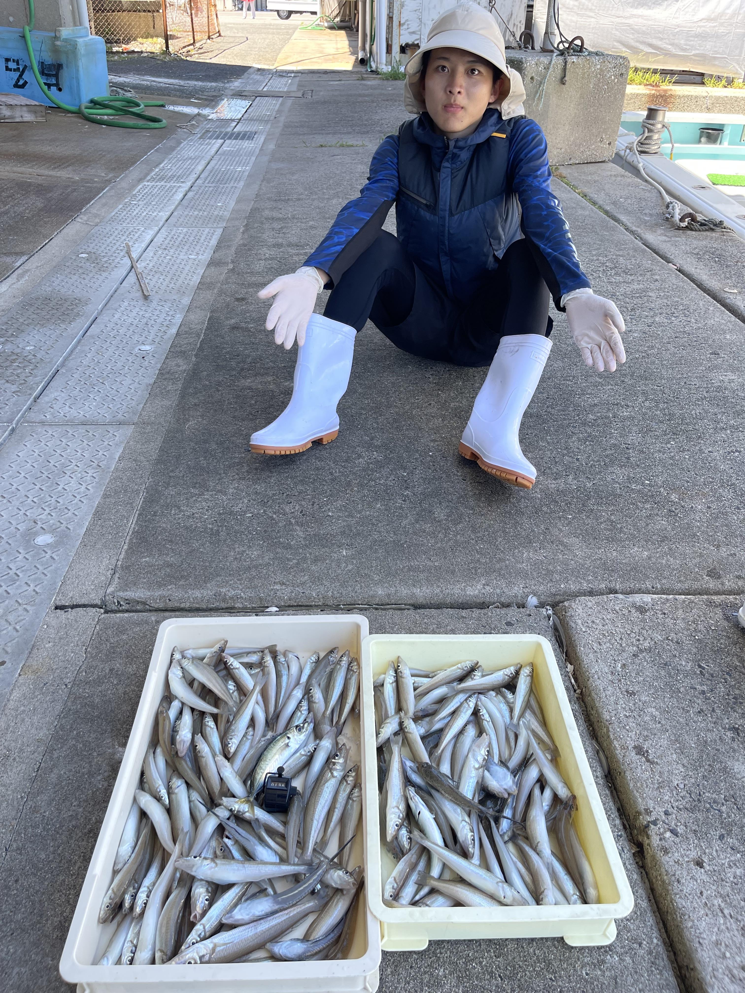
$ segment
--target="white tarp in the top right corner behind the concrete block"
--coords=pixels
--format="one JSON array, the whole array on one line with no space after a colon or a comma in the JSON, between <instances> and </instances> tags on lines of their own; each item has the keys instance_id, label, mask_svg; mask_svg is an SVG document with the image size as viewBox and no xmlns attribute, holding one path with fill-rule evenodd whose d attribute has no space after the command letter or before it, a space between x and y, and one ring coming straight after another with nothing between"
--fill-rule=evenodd
<instances>
[{"instance_id":1,"label":"white tarp in the top right corner behind the concrete block","mask_svg":"<svg viewBox=\"0 0 745 993\"><path fill-rule=\"evenodd\" d=\"M549 0L535 0L540 46ZM558 0L566 38L626 55L632 66L745 74L745 0Z\"/></svg>"}]
</instances>

